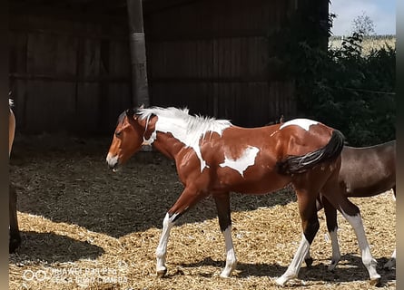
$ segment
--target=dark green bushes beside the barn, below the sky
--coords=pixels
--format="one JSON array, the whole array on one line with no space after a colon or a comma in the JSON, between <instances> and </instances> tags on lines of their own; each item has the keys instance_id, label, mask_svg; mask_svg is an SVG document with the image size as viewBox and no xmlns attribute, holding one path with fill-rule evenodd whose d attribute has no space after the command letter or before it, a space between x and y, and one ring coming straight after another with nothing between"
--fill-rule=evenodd
<instances>
[{"instance_id":1,"label":"dark green bushes beside the barn, below the sky","mask_svg":"<svg viewBox=\"0 0 404 290\"><path fill-rule=\"evenodd\" d=\"M362 40L353 33L328 51L299 42L289 66L301 114L339 129L351 146L395 139L396 50L363 55Z\"/></svg>"}]
</instances>

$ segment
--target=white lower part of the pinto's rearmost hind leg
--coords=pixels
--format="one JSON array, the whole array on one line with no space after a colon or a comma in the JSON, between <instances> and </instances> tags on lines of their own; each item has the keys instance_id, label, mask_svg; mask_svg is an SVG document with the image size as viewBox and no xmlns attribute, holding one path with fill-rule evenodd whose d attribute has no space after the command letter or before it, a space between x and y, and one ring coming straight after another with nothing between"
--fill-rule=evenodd
<instances>
[{"instance_id":1,"label":"white lower part of the pinto's rearmost hind leg","mask_svg":"<svg viewBox=\"0 0 404 290\"><path fill-rule=\"evenodd\" d=\"M345 212L341 210L344 218L348 220L350 226L353 227L356 237L358 238L358 244L360 246L360 251L362 253L362 262L363 265L368 269L370 280L377 280L380 278L380 275L376 271L377 262L371 256L370 247L368 243L368 239L366 238L365 230L363 228L362 218L360 218L360 214L356 216L347 215Z\"/></svg>"}]
</instances>

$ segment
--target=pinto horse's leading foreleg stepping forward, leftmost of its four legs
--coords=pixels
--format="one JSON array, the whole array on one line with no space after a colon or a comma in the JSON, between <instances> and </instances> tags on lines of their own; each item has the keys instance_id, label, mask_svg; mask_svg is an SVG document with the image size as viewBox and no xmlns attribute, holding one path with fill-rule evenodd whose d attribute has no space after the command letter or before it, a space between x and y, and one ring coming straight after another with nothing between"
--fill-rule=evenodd
<instances>
[{"instance_id":1,"label":"pinto horse's leading foreleg stepping forward, leftmost of its four legs","mask_svg":"<svg viewBox=\"0 0 404 290\"><path fill-rule=\"evenodd\" d=\"M204 198L202 194L196 193L191 189L184 189L182 195L177 199L175 204L170 208L163 219L163 232L160 237L159 245L156 248L156 272L157 275L163 277L167 273L165 260L167 255L167 244L170 237L170 231L174 226L175 221L182 216L182 214L195 203Z\"/></svg>"}]
</instances>

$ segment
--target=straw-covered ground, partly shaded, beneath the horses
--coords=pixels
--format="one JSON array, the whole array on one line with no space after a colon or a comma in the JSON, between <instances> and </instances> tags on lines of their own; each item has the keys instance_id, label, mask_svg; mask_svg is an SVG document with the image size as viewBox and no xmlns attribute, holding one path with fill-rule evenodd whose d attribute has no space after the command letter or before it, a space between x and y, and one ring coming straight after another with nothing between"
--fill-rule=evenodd
<instances>
[{"instance_id":1,"label":"straw-covered ground, partly shaded, beneath the horses","mask_svg":"<svg viewBox=\"0 0 404 290\"><path fill-rule=\"evenodd\" d=\"M275 289L301 239L294 193L232 195L233 239L239 260L230 279L219 277L224 240L214 202L207 198L172 229L167 277L154 274L161 224L181 192L171 160L139 153L119 174L104 164L110 140L20 138L11 178L18 187L23 245L10 255L10 289ZM353 198L361 208L382 285L396 288L395 270L381 266L395 247L391 193ZM288 288L369 289L356 237L340 217L342 259L327 271L331 247L323 212L300 279ZM36 274L36 278L32 275Z\"/></svg>"}]
</instances>

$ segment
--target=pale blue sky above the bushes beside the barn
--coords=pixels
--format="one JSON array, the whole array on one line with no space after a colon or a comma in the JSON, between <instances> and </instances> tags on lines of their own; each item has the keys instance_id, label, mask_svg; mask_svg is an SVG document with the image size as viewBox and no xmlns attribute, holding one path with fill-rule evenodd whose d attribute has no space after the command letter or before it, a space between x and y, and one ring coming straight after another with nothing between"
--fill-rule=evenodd
<instances>
[{"instance_id":1,"label":"pale blue sky above the bushes beside the barn","mask_svg":"<svg viewBox=\"0 0 404 290\"><path fill-rule=\"evenodd\" d=\"M330 13L337 14L333 35L349 35L353 19L363 13L373 21L376 34L396 34L396 0L331 0Z\"/></svg>"}]
</instances>

